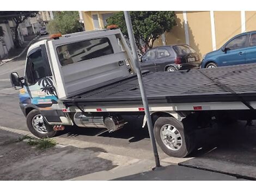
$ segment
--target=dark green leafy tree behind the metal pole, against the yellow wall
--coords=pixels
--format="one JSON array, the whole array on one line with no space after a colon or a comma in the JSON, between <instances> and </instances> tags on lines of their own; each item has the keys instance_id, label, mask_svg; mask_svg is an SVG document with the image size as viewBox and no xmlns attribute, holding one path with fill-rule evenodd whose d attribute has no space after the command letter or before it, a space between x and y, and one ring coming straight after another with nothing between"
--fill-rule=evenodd
<instances>
[{"instance_id":1,"label":"dark green leafy tree behind the metal pole, against the yellow wall","mask_svg":"<svg viewBox=\"0 0 256 191\"><path fill-rule=\"evenodd\" d=\"M137 48L144 53L153 47L156 39L176 26L174 11L130 11ZM117 25L128 36L123 11L107 18L107 25Z\"/></svg>"}]
</instances>

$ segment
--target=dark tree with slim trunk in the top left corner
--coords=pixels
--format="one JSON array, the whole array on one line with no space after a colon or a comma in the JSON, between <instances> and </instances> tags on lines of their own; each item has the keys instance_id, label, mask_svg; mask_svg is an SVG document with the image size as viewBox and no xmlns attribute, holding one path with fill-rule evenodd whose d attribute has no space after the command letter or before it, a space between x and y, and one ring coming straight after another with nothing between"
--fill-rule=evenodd
<instances>
[{"instance_id":1,"label":"dark tree with slim trunk in the top left corner","mask_svg":"<svg viewBox=\"0 0 256 191\"><path fill-rule=\"evenodd\" d=\"M20 23L24 22L28 17L35 17L37 13L38 11L0 11L0 22L7 20L15 22L14 46L16 48L20 47L18 31Z\"/></svg>"}]
</instances>

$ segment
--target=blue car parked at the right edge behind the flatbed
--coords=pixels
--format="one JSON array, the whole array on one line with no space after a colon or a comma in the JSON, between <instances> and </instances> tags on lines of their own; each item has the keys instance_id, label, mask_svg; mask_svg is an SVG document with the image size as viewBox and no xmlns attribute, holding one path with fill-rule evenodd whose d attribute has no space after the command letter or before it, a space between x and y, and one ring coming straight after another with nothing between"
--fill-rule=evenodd
<instances>
[{"instance_id":1,"label":"blue car parked at the right edge behind the flatbed","mask_svg":"<svg viewBox=\"0 0 256 191\"><path fill-rule=\"evenodd\" d=\"M234 36L220 49L203 56L201 68L256 63L256 31Z\"/></svg>"}]
</instances>

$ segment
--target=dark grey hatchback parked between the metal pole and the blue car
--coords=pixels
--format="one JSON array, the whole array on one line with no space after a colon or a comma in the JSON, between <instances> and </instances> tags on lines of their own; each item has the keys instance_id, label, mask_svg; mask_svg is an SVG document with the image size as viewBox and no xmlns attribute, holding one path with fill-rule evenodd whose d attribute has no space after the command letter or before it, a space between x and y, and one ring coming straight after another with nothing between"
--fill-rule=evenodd
<instances>
[{"instance_id":1,"label":"dark grey hatchback parked between the metal pole and the blue car","mask_svg":"<svg viewBox=\"0 0 256 191\"><path fill-rule=\"evenodd\" d=\"M152 72L174 72L200 67L200 58L187 44L161 46L148 50L140 59L141 69Z\"/></svg>"}]
</instances>

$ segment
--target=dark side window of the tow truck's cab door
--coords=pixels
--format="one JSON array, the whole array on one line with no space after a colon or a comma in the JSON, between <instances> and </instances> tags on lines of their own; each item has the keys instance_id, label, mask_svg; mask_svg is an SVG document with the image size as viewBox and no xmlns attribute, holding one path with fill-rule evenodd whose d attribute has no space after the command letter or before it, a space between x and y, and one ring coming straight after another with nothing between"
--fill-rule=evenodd
<instances>
[{"instance_id":1,"label":"dark side window of the tow truck's cab door","mask_svg":"<svg viewBox=\"0 0 256 191\"><path fill-rule=\"evenodd\" d=\"M26 77L29 84L34 84L41 78L47 76L44 59L41 50L37 50L27 58Z\"/></svg>"}]
</instances>

